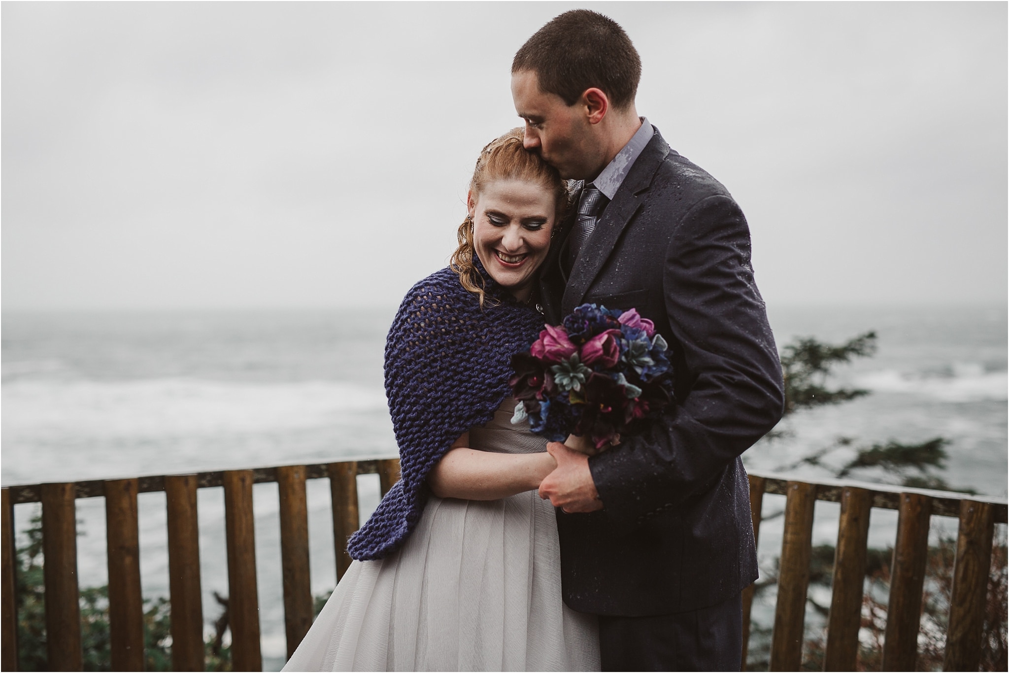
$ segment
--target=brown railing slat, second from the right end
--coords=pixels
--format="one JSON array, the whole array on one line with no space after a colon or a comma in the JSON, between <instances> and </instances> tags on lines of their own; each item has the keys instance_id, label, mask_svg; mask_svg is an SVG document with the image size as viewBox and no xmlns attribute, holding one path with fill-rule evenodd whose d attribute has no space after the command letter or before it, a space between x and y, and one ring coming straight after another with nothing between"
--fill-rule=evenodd
<instances>
[{"instance_id":1,"label":"brown railing slat, second from the right end","mask_svg":"<svg viewBox=\"0 0 1009 673\"><path fill-rule=\"evenodd\" d=\"M890 567L890 604L883 645L884 671L915 669L931 504L931 499L920 493L901 493L900 496L897 543Z\"/></svg>"}]
</instances>

